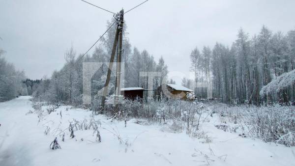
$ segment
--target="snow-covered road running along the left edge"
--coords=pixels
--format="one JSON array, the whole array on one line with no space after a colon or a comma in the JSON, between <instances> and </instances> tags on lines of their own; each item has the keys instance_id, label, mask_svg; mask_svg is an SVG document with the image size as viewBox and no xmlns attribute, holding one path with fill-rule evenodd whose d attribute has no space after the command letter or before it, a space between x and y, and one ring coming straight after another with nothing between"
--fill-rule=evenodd
<instances>
[{"instance_id":1,"label":"snow-covered road running along the left edge","mask_svg":"<svg viewBox=\"0 0 295 166\"><path fill-rule=\"evenodd\" d=\"M44 137L36 118L26 116L33 110L30 97L0 103L0 165L32 165L37 138ZM2 160L2 161L1 161Z\"/></svg>"}]
</instances>

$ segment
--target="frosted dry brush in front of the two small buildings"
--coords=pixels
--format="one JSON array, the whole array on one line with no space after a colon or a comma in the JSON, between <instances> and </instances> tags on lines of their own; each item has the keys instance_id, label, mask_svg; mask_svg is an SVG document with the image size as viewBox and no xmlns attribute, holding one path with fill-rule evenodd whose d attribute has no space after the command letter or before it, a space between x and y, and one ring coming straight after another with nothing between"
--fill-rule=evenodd
<instances>
[{"instance_id":1,"label":"frosted dry brush in front of the two small buildings","mask_svg":"<svg viewBox=\"0 0 295 166\"><path fill-rule=\"evenodd\" d=\"M124 100L118 104L118 110L115 107L114 104L107 104L104 109L112 121L135 118L139 124L146 120L148 124L164 122L168 124L165 130L180 132L186 128L188 133L199 130L200 124L206 119L205 115L211 113L201 102L179 99L148 100L148 102Z\"/></svg>"}]
</instances>

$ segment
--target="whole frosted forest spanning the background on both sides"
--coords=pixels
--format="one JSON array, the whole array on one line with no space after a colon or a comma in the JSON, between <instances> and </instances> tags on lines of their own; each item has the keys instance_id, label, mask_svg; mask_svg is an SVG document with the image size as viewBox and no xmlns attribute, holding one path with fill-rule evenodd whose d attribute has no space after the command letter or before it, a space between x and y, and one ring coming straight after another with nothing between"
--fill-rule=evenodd
<instances>
[{"instance_id":1,"label":"whole frosted forest spanning the background on both sides","mask_svg":"<svg viewBox=\"0 0 295 166\"><path fill-rule=\"evenodd\" d=\"M110 22L107 23L110 26ZM64 59L66 63L59 71L54 71L50 78L40 78L40 81L25 83L24 72L14 69L1 57L1 101L10 100L19 95L33 94L40 100L52 103L82 105L83 62L108 62L114 41L115 28L111 28L103 42L95 48L91 55L81 58L74 48L69 48ZM148 88L148 79L140 76L141 71L162 72L161 77L154 79L153 89L167 80L168 66L163 57L155 60L147 50L140 51L131 46L124 28L123 62L124 86ZM4 54L1 51L0 54ZM295 63L295 30L287 34L272 32L263 26L259 34L250 34L240 28L236 41L232 46L216 43L211 49L204 46L200 51L194 48L190 55L191 72L194 79L183 78L182 85L195 90L197 98L207 98L206 88L196 88L198 82L207 82L207 75L212 78L213 98L228 104L291 104L295 99L295 86L290 83L280 89L260 94L261 89L280 75L294 70ZM97 91L104 86L107 65L102 65L93 76L91 96L98 98ZM112 75L111 93L114 92L115 75ZM173 80L169 81L174 83ZM10 83L13 86L9 86ZM25 84L24 84L25 83ZM34 84L34 86L32 85ZM11 90L8 90L7 87ZM24 88L27 86L27 89ZM38 87L37 87L38 86ZM4 90L6 89L6 90ZM200 90L201 89L201 90ZM99 102L96 101L95 102Z\"/></svg>"}]
</instances>

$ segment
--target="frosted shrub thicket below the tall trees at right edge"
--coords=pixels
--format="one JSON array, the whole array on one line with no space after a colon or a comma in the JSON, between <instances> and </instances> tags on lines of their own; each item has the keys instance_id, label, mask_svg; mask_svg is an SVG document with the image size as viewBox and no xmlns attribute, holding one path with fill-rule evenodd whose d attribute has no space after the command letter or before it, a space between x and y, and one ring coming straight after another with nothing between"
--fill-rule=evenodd
<instances>
[{"instance_id":1,"label":"frosted shrub thicket below the tall trees at right edge","mask_svg":"<svg viewBox=\"0 0 295 166\"><path fill-rule=\"evenodd\" d=\"M218 107L219 106L219 107ZM217 104L211 107L219 114L220 122L235 123L243 134L261 138L266 142L276 142L287 146L295 146L295 108L293 106L249 106L230 107ZM216 126L221 130L236 131L236 128ZM244 133L245 132L245 133Z\"/></svg>"}]
</instances>

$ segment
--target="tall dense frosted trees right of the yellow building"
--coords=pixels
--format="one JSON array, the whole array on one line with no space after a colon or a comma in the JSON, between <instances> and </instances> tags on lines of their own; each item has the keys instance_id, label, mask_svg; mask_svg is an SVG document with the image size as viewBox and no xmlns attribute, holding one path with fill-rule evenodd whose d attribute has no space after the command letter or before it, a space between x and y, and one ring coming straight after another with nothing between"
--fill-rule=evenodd
<instances>
[{"instance_id":1,"label":"tall dense frosted trees right of the yellow building","mask_svg":"<svg viewBox=\"0 0 295 166\"><path fill-rule=\"evenodd\" d=\"M223 102L260 105L295 100L294 84L279 92L259 94L272 79L295 69L295 30L283 34L263 26L250 37L241 28L231 47L216 43L212 50L204 47L201 53L195 48L190 57L195 80L184 79L183 85L204 81L210 71L213 97Z\"/></svg>"}]
</instances>

